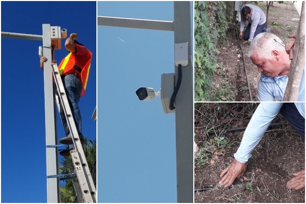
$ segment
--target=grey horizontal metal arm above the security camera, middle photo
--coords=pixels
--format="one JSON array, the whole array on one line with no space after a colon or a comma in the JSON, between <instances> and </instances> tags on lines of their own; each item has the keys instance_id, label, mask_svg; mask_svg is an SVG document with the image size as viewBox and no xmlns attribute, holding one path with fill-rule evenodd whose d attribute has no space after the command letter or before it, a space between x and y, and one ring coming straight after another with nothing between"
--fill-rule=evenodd
<instances>
[{"instance_id":1,"label":"grey horizontal metal arm above the security camera, middle photo","mask_svg":"<svg viewBox=\"0 0 306 204\"><path fill-rule=\"evenodd\" d=\"M173 21L98 16L98 25L134 29L174 31Z\"/></svg>"}]
</instances>

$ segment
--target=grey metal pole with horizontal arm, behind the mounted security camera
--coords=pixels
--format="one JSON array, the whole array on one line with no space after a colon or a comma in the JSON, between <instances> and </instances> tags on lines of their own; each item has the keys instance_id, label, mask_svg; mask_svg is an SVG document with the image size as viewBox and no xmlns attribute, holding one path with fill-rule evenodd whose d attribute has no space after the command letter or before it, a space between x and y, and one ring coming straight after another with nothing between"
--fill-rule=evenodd
<instances>
[{"instance_id":1,"label":"grey metal pole with horizontal arm, behind the mounted security camera","mask_svg":"<svg viewBox=\"0 0 306 204\"><path fill-rule=\"evenodd\" d=\"M174 43L188 42L188 65L175 98L177 202L193 202L193 65L190 2L174 2L174 21L98 16L98 25L174 31ZM173 45L174 49L174 45ZM175 66L175 81L178 69Z\"/></svg>"}]
</instances>

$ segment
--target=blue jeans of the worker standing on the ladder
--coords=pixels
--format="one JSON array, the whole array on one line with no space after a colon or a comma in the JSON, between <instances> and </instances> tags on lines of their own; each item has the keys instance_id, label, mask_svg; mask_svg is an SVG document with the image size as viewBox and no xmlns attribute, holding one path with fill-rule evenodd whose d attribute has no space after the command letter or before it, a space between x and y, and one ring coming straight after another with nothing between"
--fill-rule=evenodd
<instances>
[{"instance_id":1,"label":"blue jeans of the worker standing on the ladder","mask_svg":"<svg viewBox=\"0 0 306 204\"><path fill-rule=\"evenodd\" d=\"M62 78L63 85L65 87L65 91L68 98L68 103L72 112L72 117L74 119L75 126L77 127L79 136L82 137L82 118L81 118L81 112L78 106L81 92L83 89L81 80L75 76L74 74L68 74L65 75L64 78ZM62 122L64 125L64 130L66 133L66 136L69 135L70 131L67 126L67 120L65 117L65 114L61 114Z\"/></svg>"}]
</instances>

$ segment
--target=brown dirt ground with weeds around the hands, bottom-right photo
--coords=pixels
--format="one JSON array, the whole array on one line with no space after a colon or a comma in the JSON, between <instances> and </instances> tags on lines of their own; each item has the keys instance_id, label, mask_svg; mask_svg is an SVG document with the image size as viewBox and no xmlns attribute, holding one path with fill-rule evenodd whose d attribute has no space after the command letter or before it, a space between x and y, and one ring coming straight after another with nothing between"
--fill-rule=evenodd
<instances>
[{"instance_id":1,"label":"brown dirt ground with weeds around the hands, bottom-right photo","mask_svg":"<svg viewBox=\"0 0 306 204\"><path fill-rule=\"evenodd\" d=\"M247 189L242 189L238 179L234 184L242 188L218 185L219 175L234 159L244 131L207 132L212 127L223 130L247 126L257 106L258 103L205 103L195 109L195 142L201 155L195 159L194 188L219 188L194 192L194 202L305 202L305 189L286 188L292 174L305 168L305 140L281 114L272 123L282 124L270 127L251 153L244 173Z\"/></svg>"}]
</instances>

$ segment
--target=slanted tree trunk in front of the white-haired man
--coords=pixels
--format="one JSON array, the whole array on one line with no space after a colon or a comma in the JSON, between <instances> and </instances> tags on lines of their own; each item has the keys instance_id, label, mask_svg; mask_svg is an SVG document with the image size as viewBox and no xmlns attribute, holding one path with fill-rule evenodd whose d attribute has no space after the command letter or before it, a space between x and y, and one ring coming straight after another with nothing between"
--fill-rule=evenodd
<instances>
[{"instance_id":1,"label":"slanted tree trunk in front of the white-haired man","mask_svg":"<svg viewBox=\"0 0 306 204\"><path fill-rule=\"evenodd\" d=\"M283 101L297 101L298 90L305 65L305 2L302 2L301 16L293 47L289 79Z\"/></svg>"}]
</instances>

